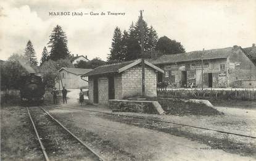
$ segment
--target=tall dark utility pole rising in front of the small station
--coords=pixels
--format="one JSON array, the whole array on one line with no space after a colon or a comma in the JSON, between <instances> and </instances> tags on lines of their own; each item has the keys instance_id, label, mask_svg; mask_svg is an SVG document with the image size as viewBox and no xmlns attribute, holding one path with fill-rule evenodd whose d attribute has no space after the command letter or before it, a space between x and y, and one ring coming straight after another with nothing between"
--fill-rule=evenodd
<instances>
[{"instance_id":1,"label":"tall dark utility pole rising in front of the small station","mask_svg":"<svg viewBox=\"0 0 256 161\"><path fill-rule=\"evenodd\" d=\"M145 96L145 64L144 64L144 31L143 31L143 18L142 10L140 10L140 28L141 28L141 68L142 68L142 96Z\"/></svg>"}]
</instances>

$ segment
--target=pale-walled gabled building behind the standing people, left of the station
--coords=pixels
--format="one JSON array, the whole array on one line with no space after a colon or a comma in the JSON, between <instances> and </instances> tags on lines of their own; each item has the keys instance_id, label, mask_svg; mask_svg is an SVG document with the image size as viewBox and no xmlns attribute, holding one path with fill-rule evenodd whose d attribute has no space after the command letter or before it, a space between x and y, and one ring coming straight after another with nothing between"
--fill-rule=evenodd
<instances>
[{"instance_id":1,"label":"pale-walled gabled building behind the standing people, left of the station","mask_svg":"<svg viewBox=\"0 0 256 161\"><path fill-rule=\"evenodd\" d=\"M81 79L81 75L90 72L88 68L60 68L61 80L56 83L56 88L79 89L88 86L88 77Z\"/></svg>"}]
</instances>

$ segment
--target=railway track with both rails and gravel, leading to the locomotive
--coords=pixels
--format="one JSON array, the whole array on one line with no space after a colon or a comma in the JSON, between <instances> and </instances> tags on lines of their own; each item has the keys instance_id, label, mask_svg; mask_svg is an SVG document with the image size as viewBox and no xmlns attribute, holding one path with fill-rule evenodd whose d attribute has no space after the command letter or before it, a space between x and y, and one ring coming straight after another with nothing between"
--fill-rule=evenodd
<instances>
[{"instance_id":1,"label":"railway track with both rails and gravel, leading to the locomotive","mask_svg":"<svg viewBox=\"0 0 256 161\"><path fill-rule=\"evenodd\" d=\"M104 160L43 107L27 107L27 112L46 161Z\"/></svg>"}]
</instances>

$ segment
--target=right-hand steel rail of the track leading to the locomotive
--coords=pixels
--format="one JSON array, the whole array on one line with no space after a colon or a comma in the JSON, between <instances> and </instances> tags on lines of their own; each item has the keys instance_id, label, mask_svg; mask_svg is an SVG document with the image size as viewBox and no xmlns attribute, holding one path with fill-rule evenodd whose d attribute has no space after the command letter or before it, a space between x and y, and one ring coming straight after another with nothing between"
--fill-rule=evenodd
<instances>
[{"instance_id":1,"label":"right-hand steel rail of the track leading to the locomotive","mask_svg":"<svg viewBox=\"0 0 256 161\"><path fill-rule=\"evenodd\" d=\"M51 114L49 114L49 112L47 112L43 107L40 107L41 110L43 110L47 115L49 115L49 117L52 118L52 120L54 120L56 123L58 123L62 128L64 128L65 131L67 131L69 134L71 134L78 142L80 142L83 146L85 146L89 151L93 152L94 155L96 155L99 160L104 161L104 159L101 157L101 155L97 154L97 152L95 152L93 149L91 149L91 147L89 147L88 145L85 144L85 142L81 141L81 139L79 139L77 136L75 136L75 134L73 134L71 131L69 131L64 125L62 125L62 123L60 123L58 120L56 120L56 118L52 117Z\"/></svg>"}]
</instances>

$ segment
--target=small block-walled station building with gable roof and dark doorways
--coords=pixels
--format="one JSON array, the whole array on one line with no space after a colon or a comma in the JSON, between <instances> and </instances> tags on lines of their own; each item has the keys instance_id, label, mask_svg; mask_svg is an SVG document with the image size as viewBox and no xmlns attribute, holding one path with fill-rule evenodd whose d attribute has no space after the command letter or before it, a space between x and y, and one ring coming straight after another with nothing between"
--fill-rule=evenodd
<instances>
[{"instance_id":1,"label":"small block-walled station building with gable roof and dark doorways","mask_svg":"<svg viewBox=\"0 0 256 161\"><path fill-rule=\"evenodd\" d=\"M109 99L125 99L141 95L142 60L102 65L83 76L88 76L89 102L108 104ZM145 96L157 96L157 73L163 70L145 63Z\"/></svg>"}]
</instances>

